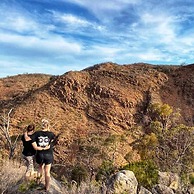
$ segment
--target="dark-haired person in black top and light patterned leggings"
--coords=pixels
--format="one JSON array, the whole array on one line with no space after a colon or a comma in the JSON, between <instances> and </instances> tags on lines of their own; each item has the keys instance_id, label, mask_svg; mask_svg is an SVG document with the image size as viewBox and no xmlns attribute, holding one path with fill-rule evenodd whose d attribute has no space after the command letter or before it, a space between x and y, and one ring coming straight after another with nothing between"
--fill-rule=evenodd
<instances>
[{"instance_id":1,"label":"dark-haired person in black top and light patterned leggings","mask_svg":"<svg viewBox=\"0 0 194 194\"><path fill-rule=\"evenodd\" d=\"M34 128L35 126L33 124L28 125L26 132L22 135L22 138L21 138L23 143L22 154L27 165L26 174L34 171L34 156L35 156L36 150L33 148L32 140L31 140L31 136L34 133Z\"/></svg>"}]
</instances>

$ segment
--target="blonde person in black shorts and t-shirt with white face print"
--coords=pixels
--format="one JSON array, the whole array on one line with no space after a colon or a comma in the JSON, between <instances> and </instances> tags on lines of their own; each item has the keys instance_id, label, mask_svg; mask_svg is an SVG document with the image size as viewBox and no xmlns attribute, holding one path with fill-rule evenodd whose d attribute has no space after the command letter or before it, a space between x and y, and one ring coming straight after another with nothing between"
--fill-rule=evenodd
<instances>
[{"instance_id":1,"label":"blonde person in black shorts and t-shirt with white face print","mask_svg":"<svg viewBox=\"0 0 194 194\"><path fill-rule=\"evenodd\" d=\"M46 119L42 120L42 130L36 131L32 136L32 145L36 153L36 162L39 164L39 173L42 175L44 170L45 189L50 187L50 169L53 162L53 145L52 142L55 135L49 129L49 122Z\"/></svg>"}]
</instances>

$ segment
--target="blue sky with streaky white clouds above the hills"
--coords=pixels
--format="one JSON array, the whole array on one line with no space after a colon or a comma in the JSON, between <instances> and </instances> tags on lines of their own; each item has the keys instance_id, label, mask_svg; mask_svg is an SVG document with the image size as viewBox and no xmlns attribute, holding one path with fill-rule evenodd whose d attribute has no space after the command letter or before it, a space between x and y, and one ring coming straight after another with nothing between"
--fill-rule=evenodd
<instances>
[{"instance_id":1,"label":"blue sky with streaky white clouds above the hills","mask_svg":"<svg viewBox=\"0 0 194 194\"><path fill-rule=\"evenodd\" d=\"M193 0L0 0L0 77L193 57Z\"/></svg>"}]
</instances>

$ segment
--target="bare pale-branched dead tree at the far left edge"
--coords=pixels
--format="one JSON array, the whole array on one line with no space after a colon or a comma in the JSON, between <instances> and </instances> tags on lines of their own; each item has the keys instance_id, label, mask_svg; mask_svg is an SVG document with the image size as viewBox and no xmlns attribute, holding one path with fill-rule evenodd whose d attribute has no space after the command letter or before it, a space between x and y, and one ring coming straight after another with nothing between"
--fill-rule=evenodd
<instances>
[{"instance_id":1,"label":"bare pale-branched dead tree at the far left edge","mask_svg":"<svg viewBox=\"0 0 194 194\"><path fill-rule=\"evenodd\" d=\"M9 159L13 158L14 151L16 148L16 143L19 138L19 135L16 136L15 139L13 139L10 135L10 114L13 109L10 109L9 112L6 114L0 116L0 132L3 138L5 139L5 143L8 146L9 149Z\"/></svg>"}]
</instances>

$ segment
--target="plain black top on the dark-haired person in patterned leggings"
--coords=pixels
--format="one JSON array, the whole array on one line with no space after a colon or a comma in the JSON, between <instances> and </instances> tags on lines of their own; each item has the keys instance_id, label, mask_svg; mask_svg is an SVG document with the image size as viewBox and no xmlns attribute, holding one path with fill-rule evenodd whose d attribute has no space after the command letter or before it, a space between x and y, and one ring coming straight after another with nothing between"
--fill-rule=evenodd
<instances>
[{"instance_id":1,"label":"plain black top on the dark-haired person in patterned leggings","mask_svg":"<svg viewBox=\"0 0 194 194\"><path fill-rule=\"evenodd\" d=\"M29 137L31 138L31 136L29 135ZM24 156L33 156L36 153L36 150L34 150L33 146L32 146L32 140L26 141L24 138L24 135L22 135L22 143L23 143L23 151L22 154Z\"/></svg>"}]
</instances>

